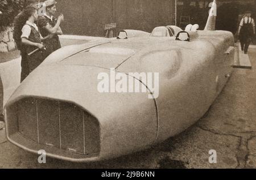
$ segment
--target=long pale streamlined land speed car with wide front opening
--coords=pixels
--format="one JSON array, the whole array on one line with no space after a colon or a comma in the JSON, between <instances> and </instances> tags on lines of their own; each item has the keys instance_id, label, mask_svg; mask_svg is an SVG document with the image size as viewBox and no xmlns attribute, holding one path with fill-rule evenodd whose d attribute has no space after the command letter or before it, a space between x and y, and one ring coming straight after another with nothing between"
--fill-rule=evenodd
<instances>
[{"instance_id":1,"label":"long pale streamlined land speed car with wide front opening","mask_svg":"<svg viewBox=\"0 0 256 180\"><path fill-rule=\"evenodd\" d=\"M118 38L65 46L10 97L7 139L26 151L44 149L49 157L75 162L145 149L207 112L232 74L234 57L231 32L185 32L171 26L151 34L125 30ZM110 76L113 70L127 78L130 72L159 73L158 96L134 76L147 93L99 92L98 75Z\"/></svg>"}]
</instances>

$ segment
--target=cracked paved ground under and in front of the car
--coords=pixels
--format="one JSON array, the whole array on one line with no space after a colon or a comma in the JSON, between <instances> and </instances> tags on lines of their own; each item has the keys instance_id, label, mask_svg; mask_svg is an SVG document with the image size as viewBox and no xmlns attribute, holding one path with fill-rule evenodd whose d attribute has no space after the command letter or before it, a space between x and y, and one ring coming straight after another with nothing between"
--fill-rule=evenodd
<instances>
[{"instance_id":1,"label":"cracked paved ground under and in front of the car","mask_svg":"<svg viewBox=\"0 0 256 180\"><path fill-rule=\"evenodd\" d=\"M249 51L255 67L256 48ZM38 156L7 142L0 122L0 168L256 168L256 70L235 69L207 114L180 135L113 160L72 163ZM209 163L209 150L217 163Z\"/></svg>"}]
</instances>

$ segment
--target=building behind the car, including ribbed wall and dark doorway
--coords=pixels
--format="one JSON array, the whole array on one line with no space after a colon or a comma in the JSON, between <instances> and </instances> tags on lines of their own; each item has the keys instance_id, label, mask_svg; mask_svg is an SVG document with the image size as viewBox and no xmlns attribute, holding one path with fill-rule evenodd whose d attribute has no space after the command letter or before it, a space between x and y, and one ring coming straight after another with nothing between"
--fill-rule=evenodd
<instances>
[{"instance_id":1,"label":"building behind the car, including ribbed wall and dark doorway","mask_svg":"<svg viewBox=\"0 0 256 180\"><path fill-rule=\"evenodd\" d=\"M61 24L65 34L105 36L105 24L117 23L114 35L121 29L151 32L160 25L175 24L175 0L57 0L57 10L64 14ZM190 16L192 24L204 28L212 0L177 0L177 25L180 16ZM218 0L217 29L236 33L238 15L253 11L256 0Z\"/></svg>"}]
</instances>

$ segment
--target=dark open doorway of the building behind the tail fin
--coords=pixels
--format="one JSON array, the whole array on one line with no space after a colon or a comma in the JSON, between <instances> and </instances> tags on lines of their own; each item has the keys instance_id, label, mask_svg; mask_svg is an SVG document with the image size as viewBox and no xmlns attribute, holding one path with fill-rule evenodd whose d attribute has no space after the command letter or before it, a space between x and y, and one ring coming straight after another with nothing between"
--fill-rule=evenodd
<instances>
[{"instance_id":1,"label":"dark open doorway of the building behind the tail fin","mask_svg":"<svg viewBox=\"0 0 256 180\"><path fill-rule=\"evenodd\" d=\"M180 16L189 16L191 24L199 24L200 29L204 29L210 2L212 0L177 0L177 25L184 28L185 24L180 24ZM238 16L246 10L251 10L253 18L256 18L255 0L217 0L217 5L217 29L236 33Z\"/></svg>"}]
</instances>

